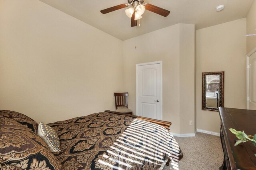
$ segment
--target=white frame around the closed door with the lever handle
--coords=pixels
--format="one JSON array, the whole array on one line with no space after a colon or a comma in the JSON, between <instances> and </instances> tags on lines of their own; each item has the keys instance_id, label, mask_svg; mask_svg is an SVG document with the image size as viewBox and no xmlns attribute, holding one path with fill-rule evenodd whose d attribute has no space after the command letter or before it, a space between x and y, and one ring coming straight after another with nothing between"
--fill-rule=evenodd
<instances>
[{"instance_id":1,"label":"white frame around the closed door with the lever handle","mask_svg":"<svg viewBox=\"0 0 256 170\"><path fill-rule=\"evenodd\" d=\"M160 120L162 120L162 61L136 64L136 115L138 114L138 67L144 65L160 64Z\"/></svg>"}]
</instances>

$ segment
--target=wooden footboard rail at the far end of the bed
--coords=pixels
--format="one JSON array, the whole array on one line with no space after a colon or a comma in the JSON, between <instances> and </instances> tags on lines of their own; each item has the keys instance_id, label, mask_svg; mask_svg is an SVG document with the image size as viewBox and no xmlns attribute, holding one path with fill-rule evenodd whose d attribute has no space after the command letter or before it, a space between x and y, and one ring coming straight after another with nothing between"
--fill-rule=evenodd
<instances>
[{"instance_id":1,"label":"wooden footboard rail at the far end of the bed","mask_svg":"<svg viewBox=\"0 0 256 170\"><path fill-rule=\"evenodd\" d=\"M118 115L125 115L125 116L134 117L134 118L136 118L136 119L141 119L141 120L150 121L150 122L152 122L152 123L156 123L156 124L158 124L158 125L163 126L163 127L166 128L168 131L170 130L170 125L172 125L172 123L169 122L169 121L162 121L162 120L157 120L157 119L151 119L151 118L148 118L148 117L130 115L130 114L120 113L120 112L110 111L110 110L105 110L105 112L108 112L108 113L115 113L115 114L118 114Z\"/></svg>"}]
</instances>

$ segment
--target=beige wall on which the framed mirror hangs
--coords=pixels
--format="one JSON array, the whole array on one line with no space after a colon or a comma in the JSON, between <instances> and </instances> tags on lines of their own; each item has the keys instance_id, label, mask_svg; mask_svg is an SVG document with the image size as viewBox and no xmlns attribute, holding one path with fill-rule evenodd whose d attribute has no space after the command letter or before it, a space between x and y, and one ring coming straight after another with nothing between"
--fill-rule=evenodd
<instances>
[{"instance_id":1,"label":"beige wall on which the framed mirror hangs","mask_svg":"<svg viewBox=\"0 0 256 170\"><path fill-rule=\"evenodd\" d=\"M196 31L196 126L220 131L218 112L203 111L202 72L224 71L224 106L246 109L246 18Z\"/></svg>"}]
</instances>

